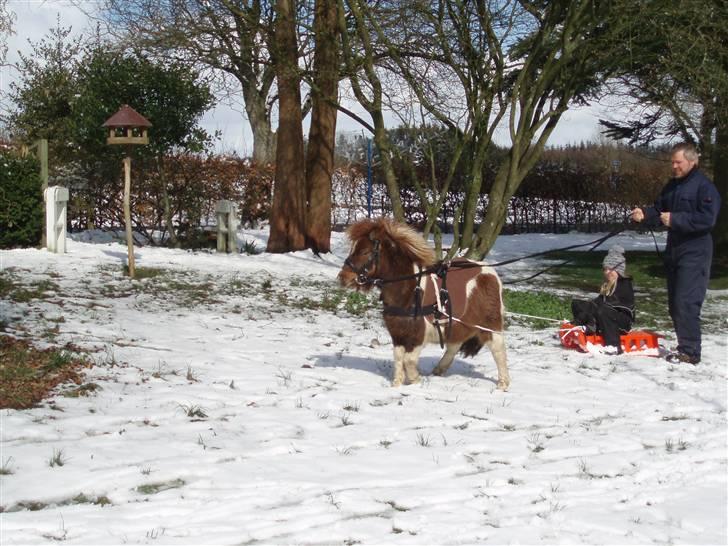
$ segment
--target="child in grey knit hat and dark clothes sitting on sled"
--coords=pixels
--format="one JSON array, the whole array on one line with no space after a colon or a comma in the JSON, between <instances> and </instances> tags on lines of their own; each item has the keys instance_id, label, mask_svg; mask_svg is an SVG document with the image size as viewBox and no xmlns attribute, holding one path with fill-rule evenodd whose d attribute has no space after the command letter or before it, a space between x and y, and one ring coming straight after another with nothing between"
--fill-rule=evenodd
<instances>
[{"instance_id":1,"label":"child in grey knit hat and dark clothes sitting on sled","mask_svg":"<svg viewBox=\"0 0 728 546\"><path fill-rule=\"evenodd\" d=\"M587 334L601 334L604 344L620 354L620 334L629 332L634 321L634 290L632 278L625 274L624 249L619 245L610 248L602 268L604 283L599 295L589 301L573 300L571 312L574 324L583 326Z\"/></svg>"}]
</instances>

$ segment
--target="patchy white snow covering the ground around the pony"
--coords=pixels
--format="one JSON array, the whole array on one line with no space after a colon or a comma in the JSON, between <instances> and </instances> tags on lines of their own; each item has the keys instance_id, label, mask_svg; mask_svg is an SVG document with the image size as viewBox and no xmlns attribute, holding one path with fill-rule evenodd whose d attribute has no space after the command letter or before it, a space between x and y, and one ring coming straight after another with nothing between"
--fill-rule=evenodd
<instances>
[{"instance_id":1,"label":"patchy white snow covering the ground around the pony","mask_svg":"<svg viewBox=\"0 0 728 546\"><path fill-rule=\"evenodd\" d=\"M489 260L598 237L504 236ZM129 281L126 247L95 233L65 255L2 251L0 269L55 294L2 300L0 320L93 351L101 389L0 412L0 542L728 542L725 331L693 367L512 325L508 392L488 351L392 388L378 311L305 305L334 293L347 250L338 233L322 259L137 248L166 285ZM422 371L439 356L427 348Z\"/></svg>"}]
</instances>

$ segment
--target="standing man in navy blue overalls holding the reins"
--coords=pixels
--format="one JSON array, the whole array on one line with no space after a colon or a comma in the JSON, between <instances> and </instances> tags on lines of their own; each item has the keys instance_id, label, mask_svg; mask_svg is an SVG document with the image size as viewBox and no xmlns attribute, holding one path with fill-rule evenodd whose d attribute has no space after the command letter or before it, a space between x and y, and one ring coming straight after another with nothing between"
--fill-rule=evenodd
<instances>
[{"instance_id":1,"label":"standing man in navy blue overalls holding the reins","mask_svg":"<svg viewBox=\"0 0 728 546\"><path fill-rule=\"evenodd\" d=\"M708 289L715 225L720 194L698 170L695 146L681 143L672 148L673 178L651 207L636 208L632 220L657 227L667 226L665 269L667 304L677 334L677 350L670 362L700 362L700 308Z\"/></svg>"}]
</instances>

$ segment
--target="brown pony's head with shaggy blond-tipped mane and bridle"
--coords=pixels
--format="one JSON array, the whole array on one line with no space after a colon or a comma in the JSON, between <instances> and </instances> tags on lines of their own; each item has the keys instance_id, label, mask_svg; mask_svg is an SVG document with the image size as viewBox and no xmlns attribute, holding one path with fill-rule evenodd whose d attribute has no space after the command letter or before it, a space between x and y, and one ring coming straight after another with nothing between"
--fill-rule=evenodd
<instances>
[{"instance_id":1,"label":"brown pony's head with shaggy blond-tipped mane and bridle","mask_svg":"<svg viewBox=\"0 0 728 546\"><path fill-rule=\"evenodd\" d=\"M342 286L369 290L372 281L414 272L414 266L427 267L435 254L422 236L411 227L389 220L361 220L347 235L351 251L339 272Z\"/></svg>"}]
</instances>

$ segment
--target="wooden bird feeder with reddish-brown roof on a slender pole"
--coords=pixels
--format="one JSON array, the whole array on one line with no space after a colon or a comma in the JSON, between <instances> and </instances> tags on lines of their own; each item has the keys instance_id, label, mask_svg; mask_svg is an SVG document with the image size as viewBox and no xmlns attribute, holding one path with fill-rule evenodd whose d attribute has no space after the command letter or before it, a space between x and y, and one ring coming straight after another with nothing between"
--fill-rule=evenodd
<instances>
[{"instance_id":1,"label":"wooden bird feeder with reddish-brown roof on a slender pole","mask_svg":"<svg viewBox=\"0 0 728 546\"><path fill-rule=\"evenodd\" d=\"M102 127L108 127L107 144L125 144L130 148L134 144L149 144L147 129L152 124L127 104L107 119ZM127 151L129 151L127 149ZM131 230L131 156L124 158L124 223L126 224L126 247L129 255L129 277L134 278L134 239Z\"/></svg>"}]
</instances>

